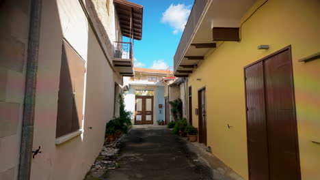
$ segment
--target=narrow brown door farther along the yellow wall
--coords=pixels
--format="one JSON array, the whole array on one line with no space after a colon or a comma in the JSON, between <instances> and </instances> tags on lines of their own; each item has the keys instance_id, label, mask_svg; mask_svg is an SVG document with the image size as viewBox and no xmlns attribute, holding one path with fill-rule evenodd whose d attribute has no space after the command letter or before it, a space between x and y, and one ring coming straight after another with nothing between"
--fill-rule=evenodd
<instances>
[{"instance_id":1,"label":"narrow brown door farther along the yellow wall","mask_svg":"<svg viewBox=\"0 0 320 180\"><path fill-rule=\"evenodd\" d=\"M199 106L199 142L206 145L206 89L198 91L198 106Z\"/></svg>"}]
</instances>

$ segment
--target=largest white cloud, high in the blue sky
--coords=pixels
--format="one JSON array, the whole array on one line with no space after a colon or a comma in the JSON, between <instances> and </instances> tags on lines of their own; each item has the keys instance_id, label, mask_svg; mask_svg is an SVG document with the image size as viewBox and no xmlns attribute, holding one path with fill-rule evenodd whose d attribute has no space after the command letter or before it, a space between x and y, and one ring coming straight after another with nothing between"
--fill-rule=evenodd
<instances>
[{"instance_id":1,"label":"largest white cloud, high in the blue sky","mask_svg":"<svg viewBox=\"0 0 320 180\"><path fill-rule=\"evenodd\" d=\"M171 4L170 7L163 12L161 22L169 23L174 29L173 33L183 32L190 12L190 5L187 6L180 3L178 3L178 5Z\"/></svg>"}]
</instances>

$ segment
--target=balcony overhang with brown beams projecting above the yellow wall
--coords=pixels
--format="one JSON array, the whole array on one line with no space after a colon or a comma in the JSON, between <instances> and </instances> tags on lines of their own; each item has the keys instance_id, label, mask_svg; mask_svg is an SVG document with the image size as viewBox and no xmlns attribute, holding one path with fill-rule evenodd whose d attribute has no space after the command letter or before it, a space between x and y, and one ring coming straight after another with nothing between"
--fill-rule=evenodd
<instances>
[{"instance_id":1,"label":"balcony overhang with brown beams projecting above the yellow wall","mask_svg":"<svg viewBox=\"0 0 320 180\"><path fill-rule=\"evenodd\" d=\"M241 18L256 0L196 0L174 56L174 76L188 77L206 53L222 41L239 41ZM196 11L198 10L198 11ZM202 11L202 14L196 14ZM194 25L194 27L192 27ZM189 29L188 29L189 28ZM193 29L193 30L190 30ZM189 32L191 31L191 32ZM187 33L186 33L187 32Z\"/></svg>"}]
</instances>

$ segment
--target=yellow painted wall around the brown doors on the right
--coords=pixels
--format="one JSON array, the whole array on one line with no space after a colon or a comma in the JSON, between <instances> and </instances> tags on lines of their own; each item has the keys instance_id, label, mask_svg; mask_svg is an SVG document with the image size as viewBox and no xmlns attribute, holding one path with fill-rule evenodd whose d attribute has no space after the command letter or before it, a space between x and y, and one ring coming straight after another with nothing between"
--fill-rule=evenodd
<instances>
[{"instance_id":1,"label":"yellow painted wall around the brown doors on the right","mask_svg":"<svg viewBox=\"0 0 320 180\"><path fill-rule=\"evenodd\" d=\"M257 1L245 20L264 1ZM269 0L242 26L241 42L224 42L207 53L189 76L192 104L206 86L208 146L244 179L248 179L243 67L291 45L302 179L320 179L320 59L298 59L320 50L319 0ZM257 46L269 44L269 50ZM196 80L201 78L201 80ZM194 113L194 110L192 110ZM198 116L193 115L198 125ZM227 124L233 127L229 130Z\"/></svg>"}]
</instances>

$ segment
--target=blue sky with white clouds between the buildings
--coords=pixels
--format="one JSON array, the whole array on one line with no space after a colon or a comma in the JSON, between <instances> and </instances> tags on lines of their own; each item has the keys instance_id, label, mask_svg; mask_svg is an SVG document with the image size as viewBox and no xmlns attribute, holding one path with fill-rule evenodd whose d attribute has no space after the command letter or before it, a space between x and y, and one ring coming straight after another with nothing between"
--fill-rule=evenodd
<instances>
[{"instance_id":1,"label":"blue sky with white clouds between the buildings","mask_svg":"<svg viewBox=\"0 0 320 180\"><path fill-rule=\"evenodd\" d=\"M144 6L142 40L135 40L135 67L164 69L173 57L194 0L129 0Z\"/></svg>"}]
</instances>

